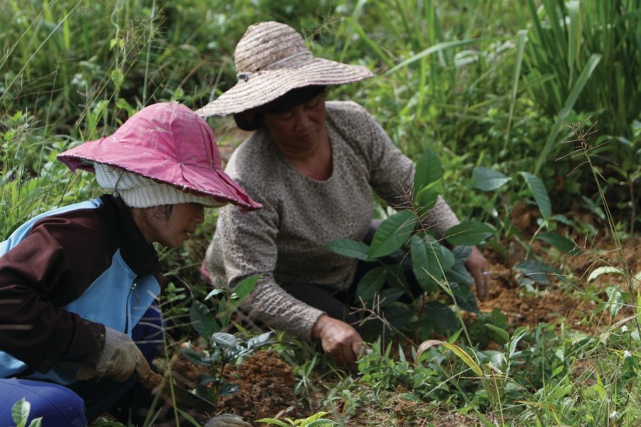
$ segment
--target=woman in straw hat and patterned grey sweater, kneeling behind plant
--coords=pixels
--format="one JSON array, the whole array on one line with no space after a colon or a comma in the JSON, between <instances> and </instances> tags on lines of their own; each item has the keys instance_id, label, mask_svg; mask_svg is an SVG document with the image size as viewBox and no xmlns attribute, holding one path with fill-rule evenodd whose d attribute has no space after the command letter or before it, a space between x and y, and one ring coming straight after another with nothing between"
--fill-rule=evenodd
<instances>
[{"instance_id":1,"label":"woman in straw hat and patterned grey sweater, kneeling behind plant","mask_svg":"<svg viewBox=\"0 0 641 427\"><path fill-rule=\"evenodd\" d=\"M369 78L369 70L315 58L283 23L250 26L234 53L238 83L197 110L234 115L256 130L226 167L264 209L221 210L205 273L231 288L260 275L245 308L267 325L319 339L337 362L353 362L360 334L349 325L341 292L356 262L323 248L335 238L363 240L372 189L392 206L407 198L415 165L354 102L325 102L325 87ZM440 200L427 218L437 236L458 223ZM467 268L480 297L487 263L474 248Z\"/></svg>"}]
</instances>

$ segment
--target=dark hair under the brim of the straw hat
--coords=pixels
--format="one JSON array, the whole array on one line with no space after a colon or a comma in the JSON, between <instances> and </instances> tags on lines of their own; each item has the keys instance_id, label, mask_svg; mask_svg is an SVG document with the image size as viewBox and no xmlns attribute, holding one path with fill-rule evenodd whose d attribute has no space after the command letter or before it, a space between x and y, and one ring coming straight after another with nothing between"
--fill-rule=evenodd
<instances>
[{"instance_id":1,"label":"dark hair under the brim of the straw hat","mask_svg":"<svg viewBox=\"0 0 641 427\"><path fill-rule=\"evenodd\" d=\"M252 108L234 114L236 126L241 130L257 130L264 126L263 118L267 113L285 112L291 107L308 102L319 93L324 93L327 86L304 86L290 90L285 95L277 97L275 100L267 102L260 107Z\"/></svg>"}]
</instances>

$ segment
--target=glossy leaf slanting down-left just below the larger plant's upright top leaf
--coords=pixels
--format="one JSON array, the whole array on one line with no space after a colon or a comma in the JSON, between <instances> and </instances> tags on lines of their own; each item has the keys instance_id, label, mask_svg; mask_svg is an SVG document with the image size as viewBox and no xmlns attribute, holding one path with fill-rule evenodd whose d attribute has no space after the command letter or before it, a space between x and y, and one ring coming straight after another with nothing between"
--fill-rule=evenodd
<instances>
[{"instance_id":1,"label":"glossy leaf slanting down-left just below the larger plant's upright top leaf","mask_svg":"<svg viewBox=\"0 0 641 427\"><path fill-rule=\"evenodd\" d=\"M412 236L416 221L410 211L399 211L382 221L372 239L369 259L390 255L403 246Z\"/></svg>"}]
</instances>

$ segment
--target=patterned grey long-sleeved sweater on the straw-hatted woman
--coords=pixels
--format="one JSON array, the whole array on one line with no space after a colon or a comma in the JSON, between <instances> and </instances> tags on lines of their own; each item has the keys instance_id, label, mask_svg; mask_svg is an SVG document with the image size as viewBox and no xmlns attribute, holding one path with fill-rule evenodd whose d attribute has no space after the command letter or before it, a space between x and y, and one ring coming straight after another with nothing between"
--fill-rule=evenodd
<instances>
[{"instance_id":1,"label":"patterned grey long-sleeved sweater on the straw-hatted woman","mask_svg":"<svg viewBox=\"0 0 641 427\"><path fill-rule=\"evenodd\" d=\"M206 255L214 284L233 289L259 274L244 308L267 325L311 339L323 314L285 292L278 283L314 283L333 290L350 286L356 260L323 248L335 238L363 240L372 220L372 189L391 206L402 204L412 188L415 166L390 141L363 107L326 102L333 172L316 181L287 161L266 130L258 130L232 154L225 172L264 208L242 213L235 206L219 212ZM427 217L437 236L459 223L439 200Z\"/></svg>"}]
</instances>

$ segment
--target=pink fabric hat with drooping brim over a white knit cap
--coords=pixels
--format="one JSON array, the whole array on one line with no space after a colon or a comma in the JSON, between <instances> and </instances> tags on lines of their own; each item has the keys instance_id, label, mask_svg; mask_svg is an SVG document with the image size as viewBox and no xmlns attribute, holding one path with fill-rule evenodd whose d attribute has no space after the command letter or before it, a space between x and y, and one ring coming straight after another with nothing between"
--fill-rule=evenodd
<instances>
[{"instance_id":1,"label":"pink fabric hat with drooping brim over a white knit cap","mask_svg":"<svg viewBox=\"0 0 641 427\"><path fill-rule=\"evenodd\" d=\"M178 102L159 102L132 115L113 135L58 154L72 172L108 164L195 196L212 196L244 210L261 208L222 172L212 128Z\"/></svg>"}]
</instances>

